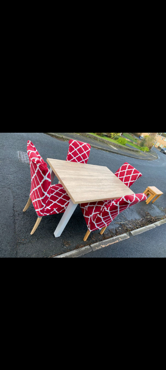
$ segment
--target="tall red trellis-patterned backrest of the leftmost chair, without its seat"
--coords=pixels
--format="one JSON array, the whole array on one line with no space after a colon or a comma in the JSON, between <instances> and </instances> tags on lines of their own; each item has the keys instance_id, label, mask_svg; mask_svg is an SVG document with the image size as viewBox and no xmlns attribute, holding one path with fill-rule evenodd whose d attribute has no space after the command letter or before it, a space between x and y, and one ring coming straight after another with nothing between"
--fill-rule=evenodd
<instances>
[{"instance_id":1,"label":"tall red trellis-patterned backrest of the leftmost chair, without its seat","mask_svg":"<svg viewBox=\"0 0 166 370\"><path fill-rule=\"evenodd\" d=\"M30 198L38 216L44 216L45 204L50 197L51 174L46 162L30 140L27 142L27 153L31 171Z\"/></svg>"}]
</instances>

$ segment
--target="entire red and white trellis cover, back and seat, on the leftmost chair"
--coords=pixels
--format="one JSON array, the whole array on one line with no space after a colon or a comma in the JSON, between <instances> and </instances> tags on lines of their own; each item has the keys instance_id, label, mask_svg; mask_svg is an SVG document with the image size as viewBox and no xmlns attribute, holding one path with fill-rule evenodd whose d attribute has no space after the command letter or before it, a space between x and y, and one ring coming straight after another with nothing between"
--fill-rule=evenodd
<instances>
[{"instance_id":1,"label":"entire red and white trellis cover, back and seat, on the leftmost chair","mask_svg":"<svg viewBox=\"0 0 166 370\"><path fill-rule=\"evenodd\" d=\"M31 171L30 198L37 215L65 212L70 197L61 184L51 185L51 174L47 164L30 140L27 142L27 153Z\"/></svg>"}]
</instances>

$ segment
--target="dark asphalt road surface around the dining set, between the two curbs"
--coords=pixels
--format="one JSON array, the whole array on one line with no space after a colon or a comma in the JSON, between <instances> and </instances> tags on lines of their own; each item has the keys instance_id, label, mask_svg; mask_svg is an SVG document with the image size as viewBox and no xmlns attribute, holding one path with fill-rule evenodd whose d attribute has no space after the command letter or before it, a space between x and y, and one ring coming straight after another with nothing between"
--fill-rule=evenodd
<instances>
[{"instance_id":1,"label":"dark asphalt road surface around the dining set, between the two curbs","mask_svg":"<svg viewBox=\"0 0 166 370\"><path fill-rule=\"evenodd\" d=\"M98 230L95 230L91 232L86 242L83 241L87 226L79 205L59 238L55 238L53 232L62 213L43 217L35 233L30 235L37 220L37 214L32 204L23 213L23 208L30 195L30 165L20 162L18 157L18 151L27 152L28 140L33 142L45 162L47 158L66 160L68 153L68 141L62 142L44 133L0 134L0 257L48 258L73 250L78 246L102 240L103 236L99 234ZM157 151L157 149L155 150ZM166 155L159 151L157 153L159 158L155 161L143 161L91 147L89 164L107 166L115 173L124 162L129 162L142 173L142 177L132 185L132 190L135 193L143 192L148 185L154 185L164 193L154 204L146 205L145 202L141 202L129 208L128 212L122 212L125 219L140 219L142 212L147 210L153 216L163 217L165 215ZM53 184L58 184L56 176ZM121 222L122 213L117 216L115 221ZM116 227L117 225L113 221L106 229L108 238L112 236L111 233Z\"/></svg>"}]
</instances>

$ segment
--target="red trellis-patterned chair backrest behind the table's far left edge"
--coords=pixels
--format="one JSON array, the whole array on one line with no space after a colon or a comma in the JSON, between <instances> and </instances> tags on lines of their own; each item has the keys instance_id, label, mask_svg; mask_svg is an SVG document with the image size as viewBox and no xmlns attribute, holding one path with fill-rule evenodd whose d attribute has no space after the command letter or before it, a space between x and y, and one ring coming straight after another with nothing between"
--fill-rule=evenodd
<instances>
[{"instance_id":1,"label":"red trellis-patterned chair backrest behind the table's far left edge","mask_svg":"<svg viewBox=\"0 0 166 370\"><path fill-rule=\"evenodd\" d=\"M69 150L66 161L87 163L90 154L90 144L86 142L69 140Z\"/></svg>"}]
</instances>

